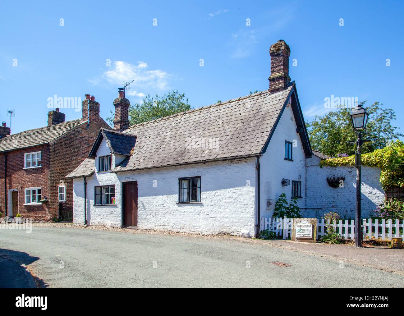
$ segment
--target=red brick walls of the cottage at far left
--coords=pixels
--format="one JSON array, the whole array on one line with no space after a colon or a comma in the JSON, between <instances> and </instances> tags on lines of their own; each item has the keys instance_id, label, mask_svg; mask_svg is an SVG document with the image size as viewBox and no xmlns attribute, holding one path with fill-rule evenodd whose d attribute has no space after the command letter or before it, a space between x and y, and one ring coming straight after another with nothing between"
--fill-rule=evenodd
<instances>
[{"instance_id":1,"label":"red brick walls of the cottage at far left","mask_svg":"<svg viewBox=\"0 0 404 316\"><path fill-rule=\"evenodd\" d=\"M65 176L88 156L99 129L101 127L110 128L100 118L93 118L89 129L86 127L86 124L82 124L82 126L50 144L6 153L7 196L8 190L19 190L18 203L21 216L32 218L34 221L50 221L54 217L59 217L59 183L66 185L67 209L73 209L73 181L65 178ZM42 151L42 167L23 169L24 154L36 151ZM41 205L24 206L24 189L27 187L41 187L42 198L46 195L48 202ZM4 154L0 154L0 212L4 217Z\"/></svg>"}]
</instances>

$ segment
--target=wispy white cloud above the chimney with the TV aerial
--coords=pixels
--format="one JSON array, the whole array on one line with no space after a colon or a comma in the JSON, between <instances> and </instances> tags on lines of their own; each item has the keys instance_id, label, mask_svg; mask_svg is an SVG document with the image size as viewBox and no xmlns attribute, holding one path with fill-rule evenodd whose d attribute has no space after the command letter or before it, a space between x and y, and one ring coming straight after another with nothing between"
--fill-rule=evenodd
<instances>
[{"instance_id":1,"label":"wispy white cloud above the chimney with the TV aerial","mask_svg":"<svg viewBox=\"0 0 404 316\"><path fill-rule=\"evenodd\" d=\"M88 81L93 84L113 84L122 86L122 82L133 82L130 84L130 90L127 95L144 97L147 93L156 93L168 90L168 80L171 75L167 72L157 70L147 70L149 66L143 61L138 61L137 65L127 63L125 61L114 61L111 70L107 70L104 74L95 79Z\"/></svg>"}]
</instances>

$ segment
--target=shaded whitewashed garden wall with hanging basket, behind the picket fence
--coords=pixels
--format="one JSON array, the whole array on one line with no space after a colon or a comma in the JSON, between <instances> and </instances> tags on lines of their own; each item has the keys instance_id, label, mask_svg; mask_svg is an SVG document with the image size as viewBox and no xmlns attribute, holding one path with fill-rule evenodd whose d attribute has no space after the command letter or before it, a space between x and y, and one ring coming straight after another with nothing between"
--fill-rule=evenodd
<instances>
[{"instance_id":1,"label":"shaded whitewashed garden wall with hanging basket, behind the picket fence","mask_svg":"<svg viewBox=\"0 0 404 316\"><path fill-rule=\"evenodd\" d=\"M302 209L304 217L321 218L329 211L337 212L345 219L355 218L356 168L353 166L318 165L320 158L312 156L306 160L306 200L307 209ZM373 216L376 206L385 198L381 187L381 169L362 166L362 217ZM327 177L345 177L344 187L333 188Z\"/></svg>"}]
</instances>

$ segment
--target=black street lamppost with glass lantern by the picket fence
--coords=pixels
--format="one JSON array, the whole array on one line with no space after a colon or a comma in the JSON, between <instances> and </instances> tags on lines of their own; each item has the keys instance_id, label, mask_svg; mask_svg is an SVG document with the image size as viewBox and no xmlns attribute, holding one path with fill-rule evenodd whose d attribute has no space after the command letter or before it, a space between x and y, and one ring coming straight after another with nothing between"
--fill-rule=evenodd
<instances>
[{"instance_id":1,"label":"black street lamppost with glass lantern by the picket fence","mask_svg":"<svg viewBox=\"0 0 404 316\"><path fill-rule=\"evenodd\" d=\"M356 143L357 150L355 153L355 167L356 167L356 212L355 212L355 246L362 246L362 233L361 233L361 216L360 216L360 146L368 139L362 139L362 133L366 129L366 123L368 122L368 113L362 107L362 104L358 104L351 112L351 120L353 131L358 135L358 140L350 141L349 143Z\"/></svg>"}]
</instances>

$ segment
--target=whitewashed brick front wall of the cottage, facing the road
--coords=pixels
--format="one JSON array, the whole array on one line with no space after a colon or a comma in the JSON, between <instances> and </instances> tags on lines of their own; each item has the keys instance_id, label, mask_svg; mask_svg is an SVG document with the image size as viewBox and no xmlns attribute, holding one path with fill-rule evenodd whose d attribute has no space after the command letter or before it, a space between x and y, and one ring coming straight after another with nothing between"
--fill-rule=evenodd
<instances>
[{"instance_id":1,"label":"whitewashed brick front wall of the cottage, facing the road","mask_svg":"<svg viewBox=\"0 0 404 316\"><path fill-rule=\"evenodd\" d=\"M105 142L97 156L109 154ZM97 159L95 160L97 163ZM114 164L114 159L112 161ZM255 234L255 158L136 171L87 178L88 223L121 225L121 181L138 183L138 228L206 234ZM178 178L201 176L201 202L177 204ZM157 187L153 186L154 180ZM94 186L115 184L116 206L94 206ZM84 223L83 179L74 180L74 222Z\"/></svg>"}]
</instances>

